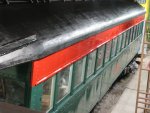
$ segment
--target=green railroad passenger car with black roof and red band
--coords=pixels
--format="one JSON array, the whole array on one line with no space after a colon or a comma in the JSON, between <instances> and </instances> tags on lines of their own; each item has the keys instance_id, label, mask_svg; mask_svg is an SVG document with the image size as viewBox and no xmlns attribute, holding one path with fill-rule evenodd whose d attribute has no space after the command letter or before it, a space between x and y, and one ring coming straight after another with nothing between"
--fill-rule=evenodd
<instances>
[{"instance_id":1,"label":"green railroad passenger car with black roof and red band","mask_svg":"<svg viewBox=\"0 0 150 113\"><path fill-rule=\"evenodd\" d=\"M145 10L130 0L8 1L0 6L3 102L89 113L140 48Z\"/></svg>"}]
</instances>

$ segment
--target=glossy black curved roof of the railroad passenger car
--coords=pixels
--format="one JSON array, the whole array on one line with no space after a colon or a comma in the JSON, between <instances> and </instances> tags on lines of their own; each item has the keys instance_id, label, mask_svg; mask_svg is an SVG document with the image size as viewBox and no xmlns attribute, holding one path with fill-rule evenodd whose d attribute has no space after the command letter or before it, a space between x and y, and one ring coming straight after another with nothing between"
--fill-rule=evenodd
<instances>
[{"instance_id":1,"label":"glossy black curved roof of the railroad passenger car","mask_svg":"<svg viewBox=\"0 0 150 113\"><path fill-rule=\"evenodd\" d=\"M102 1L0 7L0 69L43 58L145 13L134 2Z\"/></svg>"}]
</instances>

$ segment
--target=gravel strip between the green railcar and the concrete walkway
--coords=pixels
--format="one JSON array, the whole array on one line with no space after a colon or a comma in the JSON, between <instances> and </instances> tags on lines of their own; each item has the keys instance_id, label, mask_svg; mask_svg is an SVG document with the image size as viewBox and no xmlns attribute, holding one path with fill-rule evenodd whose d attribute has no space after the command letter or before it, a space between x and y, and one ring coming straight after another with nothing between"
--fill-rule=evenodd
<instances>
[{"instance_id":1,"label":"gravel strip between the green railcar and the concrete walkway","mask_svg":"<svg viewBox=\"0 0 150 113\"><path fill-rule=\"evenodd\" d=\"M129 74L119 78L110 88L108 93L103 97L103 99L97 103L91 113L111 113L113 107L125 90L126 85L132 79L132 76L133 74Z\"/></svg>"}]
</instances>

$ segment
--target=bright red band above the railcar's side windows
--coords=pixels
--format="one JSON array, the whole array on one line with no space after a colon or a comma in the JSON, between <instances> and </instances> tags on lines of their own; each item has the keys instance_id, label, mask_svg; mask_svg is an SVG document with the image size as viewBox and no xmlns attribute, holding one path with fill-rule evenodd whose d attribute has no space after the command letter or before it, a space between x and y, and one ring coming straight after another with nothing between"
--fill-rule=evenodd
<instances>
[{"instance_id":1,"label":"bright red band above the railcar's side windows","mask_svg":"<svg viewBox=\"0 0 150 113\"><path fill-rule=\"evenodd\" d=\"M136 17L130 21L91 36L70 47L60 50L50 56L33 62L31 85L35 86L52 77L60 70L86 56L99 46L117 37L120 33L144 20L144 16Z\"/></svg>"}]
</instances>

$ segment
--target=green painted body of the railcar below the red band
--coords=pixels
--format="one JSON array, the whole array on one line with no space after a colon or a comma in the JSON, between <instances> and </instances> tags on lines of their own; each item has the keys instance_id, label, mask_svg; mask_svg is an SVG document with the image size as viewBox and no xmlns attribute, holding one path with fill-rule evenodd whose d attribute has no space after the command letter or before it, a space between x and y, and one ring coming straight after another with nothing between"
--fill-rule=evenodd
<instances>
[{"instance_id":1,"label":"green painted body of the railcar below the red band","mask_svg":"<svg viewBox=\"0 0 150 113\"><path fill-rule=\"evenodd\" d=\"M68 92L65 95L63 95L63 97L60 97L61 99L58 99L58 96L60 94L58 88L60 83L61 72L57 73L52 78L49 78L52 81L50 85L51 93L49 96L51 105L50 107L46 108L46 111L48 113L90 112L97 103L97 101L103 98L103 96L109 90L114 81L122 73L124 68L138 53L140 49L140 43L142 41L143 25L144 22L141 22L136 26L136 28L139 28L138 31L135 32L125 31L124 33L120 34L113 40L109 41L108 43L110 43L111 45L109 46L110 47L109 58L106 58L106 50L108 44L106 43L79 60L79 61L82 60L82 62L79 63L75 62L72 65L70 65L69 80L68 80L69 89ZM133 29L134 27L130 28L129 30L132 31ZM132 38L133 35L134 38ZM128 37L125 38L125 36ZM123 38L125 40L123 40ZM114 48L115 50L113 50ZM99 51L102 53L101 54L102 61L101 64L98 65L97 62ZM115 52L115 54L113 52ZM89 59L92 59L92 61L88 62ZM105 61L106 59L107 62ZM95 63L92 64L93 61ZM76 81L75 73L76 70L79 68L78 64L80 63L83 63L83 65L81 66L82 68L81 76L83 76L83 78L77 84L75 83ZM88 65L89 63L91 64ZM90 69L93 68L93 70L88 70L88 66L90 66ZM8 95L9 98L7 98L7 96L4 97L4 100L9 103L18 104L33 110L41 111L43 109L42 108L43 107L42 96L44 92L43 87L49 79L45 82L40 83L37 86L31 87L30 86L31 72L32 72L31 63L20 64L18 66L10 67L0 71L0 78L3 81L1 83L5 84L6 81L11 80L10 84L12 84L12 87L9 89L14 90L14 91L6 91L5 93L8 94L10 93L10 95Z\"/></svg>"}]
</instances>

